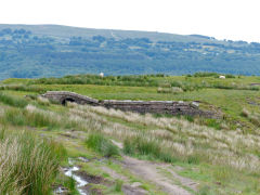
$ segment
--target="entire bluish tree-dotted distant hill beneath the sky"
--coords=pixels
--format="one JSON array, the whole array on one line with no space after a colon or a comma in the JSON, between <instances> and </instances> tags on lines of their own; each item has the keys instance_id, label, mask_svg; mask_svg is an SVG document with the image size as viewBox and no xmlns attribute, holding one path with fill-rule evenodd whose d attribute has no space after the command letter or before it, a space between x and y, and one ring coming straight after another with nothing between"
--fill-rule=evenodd
<instances>
[{"instance_id":1,"label":"entire bluish tree-dotted distant hill beneath the sky","mask_svg":"<svg viewBox=\"0 0 260 195\"><path fill-rule=\"evenodd\" d=\"M68 74L259 75L260 43L203 35L0 25L0 79Z\"/></svg>"}]
</instances>

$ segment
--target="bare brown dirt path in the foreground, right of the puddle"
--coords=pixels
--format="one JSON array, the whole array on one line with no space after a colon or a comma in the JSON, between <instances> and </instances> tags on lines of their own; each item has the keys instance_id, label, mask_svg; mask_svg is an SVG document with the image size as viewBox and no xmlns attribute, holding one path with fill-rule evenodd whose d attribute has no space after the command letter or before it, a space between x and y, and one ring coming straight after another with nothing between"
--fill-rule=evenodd
<instances>
[{"instance_id":1,"label":"bare brown dirt path in the foreground, right of the puddle","mask_svg":"<svg viewBox=\"0 0 260 195\"><path fill-rule=\"evenodd\" d=\"M77 134L74 132L74 136L70 134L63 133L62 138L65 140L70 140L72 143L76 144L75 139L79 139ZM119 148L122 148L122 143L116 142L112 140L112 142L117 145ZM118 161L119 162L119 161ZM169 195L191 195L192 193L185 188L190 188L194 192L197 191L197 183L193 182L191 179L183 178L179 176L173 166L170 164L162 162L153 162L147 160L140 160L133 157L125 156L122 154L122 160L119 162L125 169L129 170L136 178L143 179L148 183L152 183L158 187L159 191L165 192ZM118 174L116 171L109 169L104 166L101 167L103 171L109 173L109 176L114 179L119 179L125 181L126 183L122 186L123 194L126 195L145 195L147 191L144 191L139 185L131 184L128 177Z\"/></svg>"}]
</instances>

